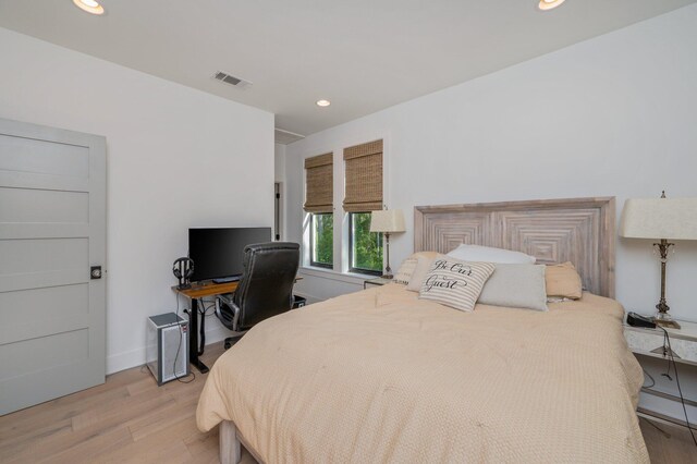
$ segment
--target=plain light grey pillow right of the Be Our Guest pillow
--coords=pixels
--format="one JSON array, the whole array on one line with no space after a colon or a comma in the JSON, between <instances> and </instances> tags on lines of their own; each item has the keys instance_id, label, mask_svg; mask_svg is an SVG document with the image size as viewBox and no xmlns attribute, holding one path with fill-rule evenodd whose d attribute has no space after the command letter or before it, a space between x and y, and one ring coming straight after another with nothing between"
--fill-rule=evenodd
<instances>
[{"instance_id":1,"label":"plain light grey pillow right of the Be Our Guest pillow","mask_svg":"<svg viewBox=\"0 0 697 464\"><path fill-rule=\"evenodd\" d=\"M497 265L478 303L547 310L545 265Z\"/></svg>"}]
</instances>

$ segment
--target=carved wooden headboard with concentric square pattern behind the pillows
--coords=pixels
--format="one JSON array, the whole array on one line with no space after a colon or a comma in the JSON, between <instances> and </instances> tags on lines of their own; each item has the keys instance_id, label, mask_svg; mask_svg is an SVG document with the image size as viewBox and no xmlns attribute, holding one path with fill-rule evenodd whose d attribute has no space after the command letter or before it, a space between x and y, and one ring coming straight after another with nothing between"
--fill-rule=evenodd
<instances>
[{"instance_id":1,"label":"carved wooden headboard with concentric square pattern behind the pillows","mask_svg":"<svg viewBox=\"0 0 697 464\"><path fill-rule=\"evenodd\" d=\"M417 206L414 251L460 244L513 249L540 264L572 261L584 289L614 297L614 197Z\"/></svg>"}]
</instances>

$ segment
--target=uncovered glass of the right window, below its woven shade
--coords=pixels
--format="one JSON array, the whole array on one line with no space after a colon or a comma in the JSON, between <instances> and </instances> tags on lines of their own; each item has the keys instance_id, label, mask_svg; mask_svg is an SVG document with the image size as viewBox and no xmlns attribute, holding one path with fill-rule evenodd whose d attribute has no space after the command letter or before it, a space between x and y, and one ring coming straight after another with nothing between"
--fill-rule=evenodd
<instances>
[{"instance_id":1,"label":"uncovered glass of the right window, below its woven shade","mask_svg":"<svg viewBox=\"0 0 697 464\"><path fill-rule=\"evenodd\" d=\"M370 212L350 212L348 271L382 274L382 234L370 232Z\"/></svg>"}]
</instances>

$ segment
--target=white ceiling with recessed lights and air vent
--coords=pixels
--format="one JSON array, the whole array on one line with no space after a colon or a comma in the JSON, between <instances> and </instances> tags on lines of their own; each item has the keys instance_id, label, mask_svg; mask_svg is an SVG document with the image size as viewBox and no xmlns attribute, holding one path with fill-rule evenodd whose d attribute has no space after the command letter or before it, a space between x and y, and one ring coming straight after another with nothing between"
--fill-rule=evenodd
<instances>
[{"instance_id":1,"label":"white ceiling with recessed lights and air vent","mask_svg":"<svg viewBox=\"0 0 697 464\"><path fill-rule=\"evenodd\" d=\"M697 0L0 0L0 26L276 113L309 135ZM211 78L250 81L239 89ZM327 98L329 108L315 101Z\"/></svg>"}]
</instances>

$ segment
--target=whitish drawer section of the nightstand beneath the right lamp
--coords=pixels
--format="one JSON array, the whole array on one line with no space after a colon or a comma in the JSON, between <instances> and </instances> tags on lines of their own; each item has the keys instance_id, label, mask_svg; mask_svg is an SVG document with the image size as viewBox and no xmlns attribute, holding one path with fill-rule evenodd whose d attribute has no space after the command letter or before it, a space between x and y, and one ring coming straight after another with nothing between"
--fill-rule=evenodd
<instances>
[{"instance_id":1,"label":"whitish drawer section of the nightstand beneath the right lamp","mask_svg":"<svg viewBox=\"0 0 697 464\"><path fill-rule=\"evenodd\" d=\"M671 338L675 363L697 366L697 323L678 321L680 329L665 329ZM624 338L629 350L644 356L668 359L663 353L663 331L644 327L624 326Z\"/></svg>"}]
</instances>

